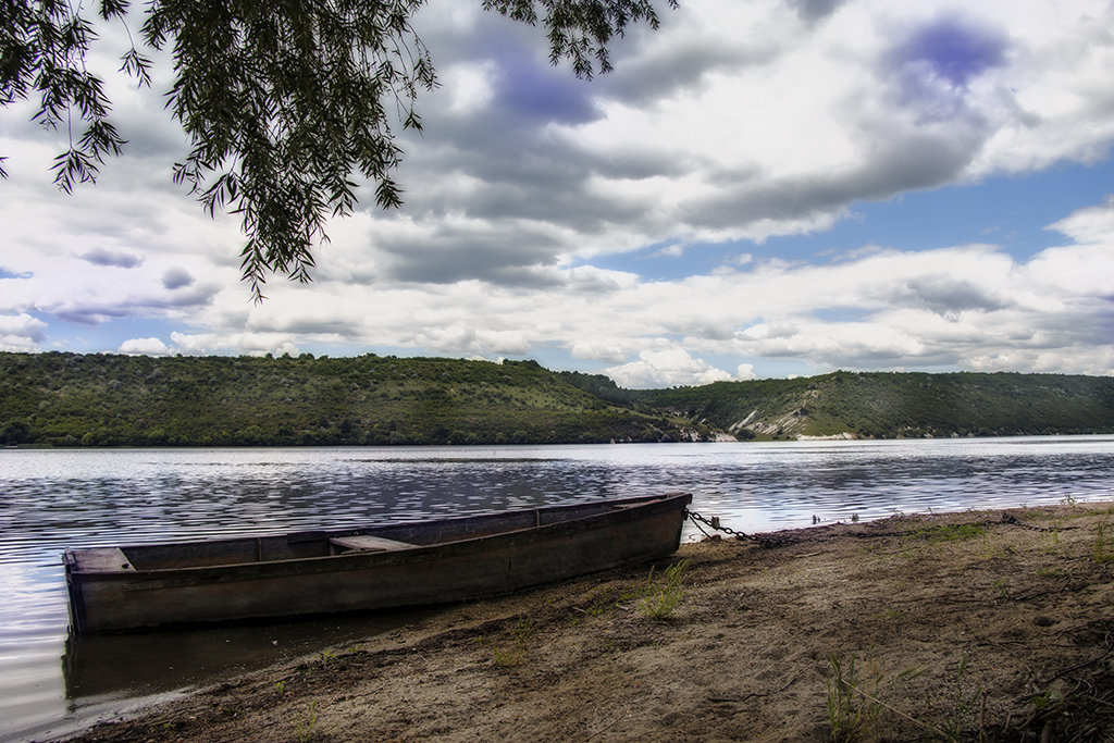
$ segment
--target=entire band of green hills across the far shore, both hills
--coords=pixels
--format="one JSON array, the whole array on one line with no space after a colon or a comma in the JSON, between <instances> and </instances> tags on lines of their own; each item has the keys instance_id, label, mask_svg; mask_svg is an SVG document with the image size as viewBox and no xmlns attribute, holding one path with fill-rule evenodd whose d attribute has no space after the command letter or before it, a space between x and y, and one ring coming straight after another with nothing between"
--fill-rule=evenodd
<instances>
[{"instance_id":1,"label":"entire band of green hills across the far shore, both hills","mask_svg":"<svg viewBox=\"0 0 1114 743\"><path fill-rule=\"evenodd\" d=\"M0 444L305 446L1114 432L1114 378L834 372L624 390L532 361L0 353Z\"/></svg>"}]
</instances>

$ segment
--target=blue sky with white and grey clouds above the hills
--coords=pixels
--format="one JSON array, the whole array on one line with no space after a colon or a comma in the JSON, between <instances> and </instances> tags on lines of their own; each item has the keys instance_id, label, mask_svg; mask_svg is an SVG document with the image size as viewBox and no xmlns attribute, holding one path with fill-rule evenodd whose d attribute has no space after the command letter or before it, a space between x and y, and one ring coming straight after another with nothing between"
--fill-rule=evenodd
<instances>
[{"instance_id":1,"label":"blue sky with white and grey clouds above the hills","mask_svg":"<svg viewBox=\"0 0 1114 743\"><path fill-rule=\"evenodd\" d=\"M311 284L240 281L244 236L129 140L51 183L0 110L0 350L535 359L628 388L864 371L1114 374L1114 4L682 0L577 79L544 29L431 0L441 86ZM90 66L115 69L106 29Z\"/></svg>"}]
</instances>

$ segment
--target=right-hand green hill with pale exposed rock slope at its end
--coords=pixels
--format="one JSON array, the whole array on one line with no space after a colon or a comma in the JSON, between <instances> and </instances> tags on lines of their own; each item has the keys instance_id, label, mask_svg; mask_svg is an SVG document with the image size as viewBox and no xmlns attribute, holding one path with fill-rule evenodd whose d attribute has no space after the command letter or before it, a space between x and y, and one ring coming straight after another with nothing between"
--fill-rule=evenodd
<instances>
[{"instance_id":1,"label":"right-hand green hill with pale exposed rock slope at its end","mask_svg":"<svg viewBox=\"0 0 1114 743\"><path fill-rule=\"evenodd\" d=\"M657 390L643 402L737 438L1114 432L1110 377L834 372Z\"/></svg>"}]
</instances>

